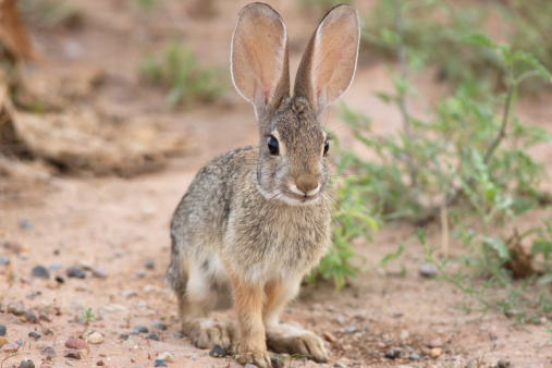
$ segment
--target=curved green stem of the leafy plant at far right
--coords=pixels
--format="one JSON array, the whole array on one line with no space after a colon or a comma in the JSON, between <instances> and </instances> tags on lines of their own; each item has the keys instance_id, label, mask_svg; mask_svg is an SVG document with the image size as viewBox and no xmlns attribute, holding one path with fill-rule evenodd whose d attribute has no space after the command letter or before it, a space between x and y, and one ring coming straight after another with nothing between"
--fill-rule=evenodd
<instances>
[{"instance_id":1,"label":"curved green stem of the leafy plant at far right","mask_svg":"<svg viewBox=\"0 0 552 368\"><path fill-rule=\"evenodd\" d=\"M496 135L496 137L494 137L493 142L491 143L491 145L487 149L487 152L484 154L484 157L483 157L484 164L489 163L492 155L496 150L496 147L499 147L499 145L502 142L502 139L506 136L506 126L507 126L507 123L508 123L508 120L510 120L510 112L511 112L510 110L511 110L512 100L513 100L513 97L514 97L514 89L515 89L514 85L510 85L508 86L506 101L504 103L504 112L503 112L503 115L502 115L502 124L501 124L501 127L500 127L500 132ZM469 179L466 184L468 186L474 185L474 179ZM444 200L439 206L436 206L436 207L433 207L431 209L431 211L430 211L429 214L427 214L426 217L424 217L424 218L419 219L418 221L416 221L416 225L418 225L418 226L425 226L429 222L433 221L437 218L437 214L441 211L441 208L456 205L458 203L459 198L462 197L463 193L464 192L462 191L461 187L456 188L456 191L454 192L454 194L452 196L446 196L444 198Z\"/></svg>"}]
</instances>

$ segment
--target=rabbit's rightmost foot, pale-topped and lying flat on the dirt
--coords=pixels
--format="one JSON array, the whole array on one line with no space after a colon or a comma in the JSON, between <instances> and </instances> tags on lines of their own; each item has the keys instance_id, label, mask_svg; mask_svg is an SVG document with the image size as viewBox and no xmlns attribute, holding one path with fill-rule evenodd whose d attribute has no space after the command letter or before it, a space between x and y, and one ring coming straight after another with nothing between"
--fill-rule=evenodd
<instances>
[{"instance_id":1,"label":"rabbit's rightmost foot, pale-topped and lying flat on the dirt","mask_svg":"<svg viewBox=\"0 0 552 368\"><path fill-rule=\"evenodd\" d=\"M316 361L328 361L322 339L314 332L289 324L267 329L267 345L277 353L299 354Z\"/></svg>"}]
</instances>

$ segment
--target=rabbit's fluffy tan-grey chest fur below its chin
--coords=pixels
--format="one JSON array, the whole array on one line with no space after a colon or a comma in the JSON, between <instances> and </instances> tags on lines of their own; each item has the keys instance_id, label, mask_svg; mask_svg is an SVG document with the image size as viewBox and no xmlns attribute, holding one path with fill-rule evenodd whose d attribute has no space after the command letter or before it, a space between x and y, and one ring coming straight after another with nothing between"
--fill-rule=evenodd
<instances>
[{"instance_id":1,"label":"rabbit's fluffy tan-grey chest fur below its chin","mask_svg":"<svg viewBox=\"0 0 552 368\"><path fill-rule=\"evenodd\" d=\"M223 254L252 280L303 275L330 244L331 216L324 207L242 213L229 219Z\"/></svg>"}]
</instances>

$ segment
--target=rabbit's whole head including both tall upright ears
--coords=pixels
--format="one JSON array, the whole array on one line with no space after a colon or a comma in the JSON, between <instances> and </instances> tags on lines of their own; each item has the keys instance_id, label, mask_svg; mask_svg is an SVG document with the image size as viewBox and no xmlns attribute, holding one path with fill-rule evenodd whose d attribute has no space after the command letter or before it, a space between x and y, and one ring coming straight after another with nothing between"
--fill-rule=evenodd
<instances>
[{"instance_id":1,"label":"rabbit's whole head including both tall upright ears","mask_svg":"<svg viewBox=\"0 0 552 368\"><path fill-rule=\"evenodd\" d=\"M333 8L310 38L291 97L282 19L263 3L240 12L232 38L232 79L255 107L260 133L257 187L266 198L302 205L324 193L330 144L320 116L351 85L358 41L356 9Z\"/></svg>"}]
</instances>

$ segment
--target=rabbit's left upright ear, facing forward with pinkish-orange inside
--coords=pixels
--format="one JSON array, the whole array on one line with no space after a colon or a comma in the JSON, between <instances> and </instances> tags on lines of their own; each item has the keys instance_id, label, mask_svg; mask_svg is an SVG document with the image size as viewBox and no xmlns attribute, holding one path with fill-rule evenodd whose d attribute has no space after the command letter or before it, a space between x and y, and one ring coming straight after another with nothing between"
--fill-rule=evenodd
<instances>
[{"instance_id":1,"label":"rabbit's left upright ear, facing forward with pinkish-orange inside","mask_svg":"<svg viewBox=\"0 0 552 368\"><path fill-rule=\"evenodd\" d=\"M290 95L287 34L272 8L257 2L242 9L232 37L231 62L234 86L254 105L258 120Z\"/></svg>"}]
</instances>

